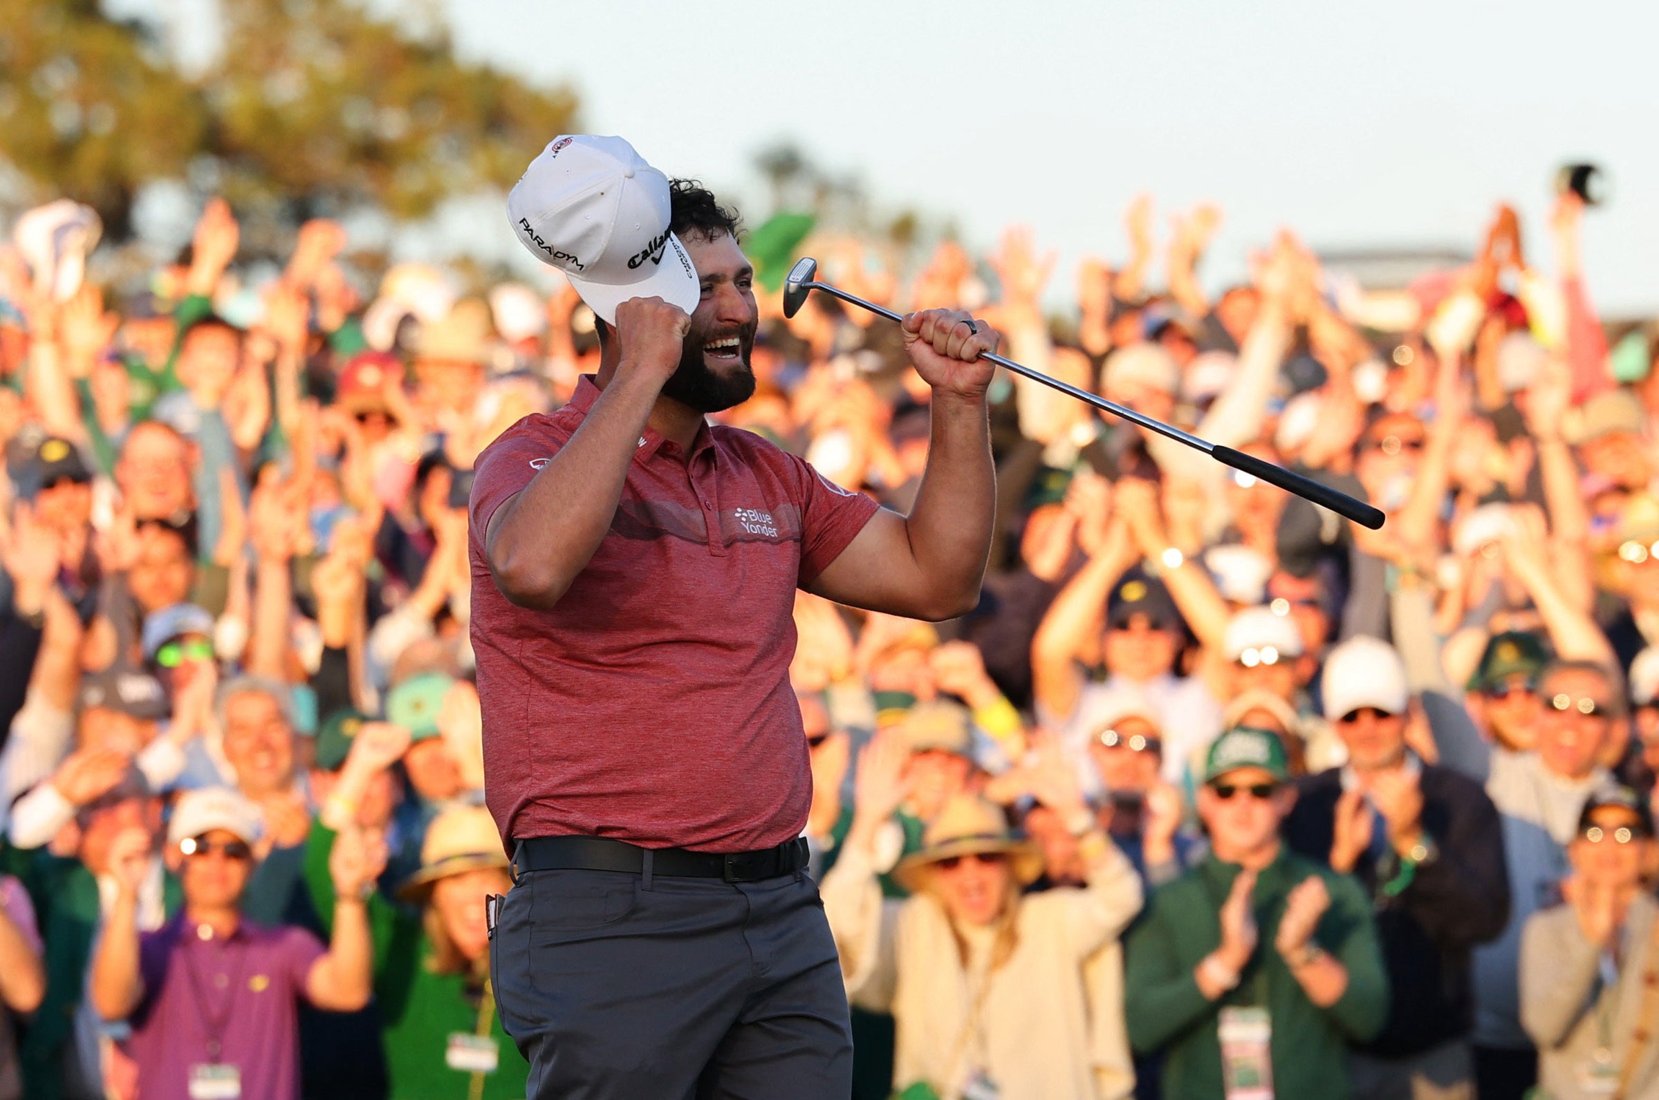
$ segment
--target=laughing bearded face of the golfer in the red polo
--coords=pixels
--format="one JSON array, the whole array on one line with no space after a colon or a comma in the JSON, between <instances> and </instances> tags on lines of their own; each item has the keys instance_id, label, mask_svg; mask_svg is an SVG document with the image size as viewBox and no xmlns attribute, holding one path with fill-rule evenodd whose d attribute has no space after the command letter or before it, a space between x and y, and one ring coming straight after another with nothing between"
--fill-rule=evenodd
<instances>
[{"instance_id":1,"label":"laughing bearded face of the golfer in the red polo","mask_svg":"<svg viewBox=\"0 0 1659 1100\"><path fill-rule=\"evenodd\" d=\"M692 312L680 367L662 392L700 413L718 413L755 393L748 363L760 325L755 269L732 234L708 237L692 231L682 244L697 267L702 299Z\"/></svg>"}]
</instances>

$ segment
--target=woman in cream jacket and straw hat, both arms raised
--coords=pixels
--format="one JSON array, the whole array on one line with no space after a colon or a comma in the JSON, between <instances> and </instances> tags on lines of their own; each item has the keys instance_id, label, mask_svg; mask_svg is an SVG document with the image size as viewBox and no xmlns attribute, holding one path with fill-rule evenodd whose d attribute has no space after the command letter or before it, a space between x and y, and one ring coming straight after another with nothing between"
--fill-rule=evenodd
<instances>
[{"instance_id":1,"label":"woman in cream jacket and straw hat, both arms raised","mask_svg":"<svg viewBox=\"0 0 1659 1100\"><path fill-rule=\"evenodd\" d=\"M1022 894L1042 856L999 808L957 796L896 869L912 891L906 901L883 899L873 846L907 793L906 750L884 732L859 755L853 828L825 876L825 911L853 1004L898 1024L893 1083L906 1095L1100 1095L1083 964L1140 911L1141 886L1100 833L1075 770L1052 745L1042 755L1027 786L1082 836L1088 884Z\"/></svg>"}]
</instances>

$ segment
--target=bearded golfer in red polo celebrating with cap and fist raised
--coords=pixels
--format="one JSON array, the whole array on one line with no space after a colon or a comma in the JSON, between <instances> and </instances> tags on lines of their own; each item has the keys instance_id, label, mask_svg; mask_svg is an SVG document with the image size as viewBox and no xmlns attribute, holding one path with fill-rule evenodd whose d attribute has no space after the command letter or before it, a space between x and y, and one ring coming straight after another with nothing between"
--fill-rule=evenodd
<instances>
[{"instance_id":1,"label":"bearded golfer in red polo celebrating with cap and fist raised","mask_svg":"<svg viewBox=\"0 0 1659 1100\"><path fill-rule=\"evenodd\" d=\"M795 589L966 612L994 473L966 314L904 320L932 387L909 516L705 415L743 402L758 312L737 217L619 138L564 136L508 199L599 317L599 373L509 428L471 498L494 927L533 1097L846 1097L848 1007L800 840Z\"/></svg>"}]
</instances>

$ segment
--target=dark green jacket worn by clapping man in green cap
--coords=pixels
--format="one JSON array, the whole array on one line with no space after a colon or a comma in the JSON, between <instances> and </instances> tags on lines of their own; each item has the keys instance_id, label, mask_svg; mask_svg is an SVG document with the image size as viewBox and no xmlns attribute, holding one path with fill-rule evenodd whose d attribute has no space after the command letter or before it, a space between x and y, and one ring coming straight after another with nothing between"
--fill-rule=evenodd
<instances>
[{"instance_id":1,"label":"dark green jacket worn by clapping man in green cap","mask_svg":"<svg viewBox=\"0 0 1659 1100\"><path fill-rule=\"evenodd\" d=\"M1281 848L1256 879L1256 956L1238 989L1206 1000L1193 971L1221 946L1221 903L1238 864L1206 856L1201 864L1156 891L1128 937L1126 981L1130 1044L1138 1054L1163 1049L1163 1095L1171 1100L1223 1095L1223 1005L1264 1005L1272 1022L1272 1085L1281 1097L1345 1097L1347 1045L1382 1029L1389 982L1377 946L1370 903L1359 884ZM1292 886L1317 874L1331 891L1331 908L1314 941L1349 972L1347 989L1329 1009L1316 1007L1272 947Z\"/></svg>"}]
</instances>

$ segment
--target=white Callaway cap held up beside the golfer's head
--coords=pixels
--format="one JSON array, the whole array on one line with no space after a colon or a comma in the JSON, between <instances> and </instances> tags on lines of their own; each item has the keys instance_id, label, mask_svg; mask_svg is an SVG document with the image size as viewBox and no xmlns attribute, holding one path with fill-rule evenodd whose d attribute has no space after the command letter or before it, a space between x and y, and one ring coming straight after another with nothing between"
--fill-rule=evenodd
<instances>
[{"instance_id":1,"label":"white Callaway cap held up beside the golfer's head","mask_svg":"<svg viewBox=\"0 0 1659 1100\"><path fill-rule=\"evenodd\" d=\"M622 138L549 141L508 194L508 219L529 254L562 270L606 324L629 299L697 309L697 269L669 232L669 178Z\"/></svg>"}]
</instances>

